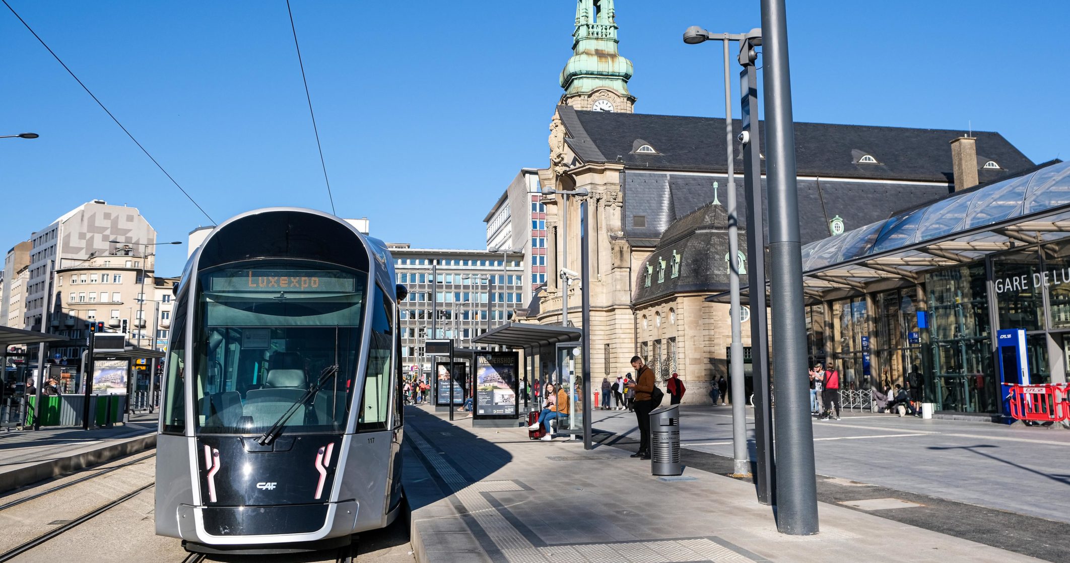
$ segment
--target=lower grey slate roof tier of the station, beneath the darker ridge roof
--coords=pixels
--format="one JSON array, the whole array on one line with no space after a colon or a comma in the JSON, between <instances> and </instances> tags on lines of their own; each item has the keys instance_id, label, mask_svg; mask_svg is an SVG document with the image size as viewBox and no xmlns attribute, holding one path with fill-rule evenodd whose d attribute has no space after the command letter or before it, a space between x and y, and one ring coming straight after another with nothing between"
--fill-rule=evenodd
<instances>
[{"instance_id":1,"label":"lower grey slate roof tier of the station, beneath the darker ridge roof","mask_svg":"<svg viewBox=\"0 0 1070 563\"><path fill-rule=\"evenodd\" d=\"M624 172L624 235L635 246L653 246L670 238L677 220L714 199L727 201L727 178L717 174ZM763 185L765 181L763 179ZM947 186L800 179L798 185L799 234L802 244L830 234L828 222L839 215L847 230L886 219L904 207L946 197ZM747 225L747 200L743 180L736 177L739 225ZM766 208L767 209L767 208ZM645 216L645 227L635 227L636 215ZM764 229L768 231L768 227ZM664 234L662 234L664 233ZM725 243L727 244L727 243Z\"/></svg>"}]
</instances>

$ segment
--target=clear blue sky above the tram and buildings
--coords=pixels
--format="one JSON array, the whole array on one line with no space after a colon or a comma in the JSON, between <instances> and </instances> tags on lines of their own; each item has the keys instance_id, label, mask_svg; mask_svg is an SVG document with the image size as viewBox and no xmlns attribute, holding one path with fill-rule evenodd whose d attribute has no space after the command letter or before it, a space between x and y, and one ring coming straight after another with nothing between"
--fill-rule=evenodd
<instances>
[{"instance_id":1,"label":"clear blue sky above the tram and buildings","mask_svg":"<svg viewBox=\"0 0 1070 563\"><path fill-rule=\"evenodd\" d=\"M330 210L285 1L7 1L215 220ZM547 164L575 2L291 1L338 214L483 247L518 169ZM972 124L1070 156L1070 2L788 4L797 121ZM758 5L617 0L637 111L723 116L719 44L681 35L759 27ZM2 6L0 49L0 134L41 134L0 139L0 246L92 198L139 208L160 241L209 224ZM185 255L160 247L160 273Z\"/></svg>"}]
</instances>

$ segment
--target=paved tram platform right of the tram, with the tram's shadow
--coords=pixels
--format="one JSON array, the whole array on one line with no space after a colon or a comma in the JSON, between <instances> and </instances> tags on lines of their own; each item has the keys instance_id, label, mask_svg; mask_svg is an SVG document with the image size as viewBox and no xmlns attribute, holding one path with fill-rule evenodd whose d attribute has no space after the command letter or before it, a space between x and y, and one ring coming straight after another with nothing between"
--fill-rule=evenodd
<instances>
[{"instance_id":1,"label":"paved tram platform right of the tram, with the tram's shadow","mask_svg":"<svg viewBox=\"0 0 1070 563\"><path fill-rule=\"evenodd\" d=\"M473 428L423 408L406 414L421 562L1040 561L828 503L820 534L786 536L747 482L696 468L663 482L622 447L530 441L523 428Z\"/></svg>"}]
</instances>

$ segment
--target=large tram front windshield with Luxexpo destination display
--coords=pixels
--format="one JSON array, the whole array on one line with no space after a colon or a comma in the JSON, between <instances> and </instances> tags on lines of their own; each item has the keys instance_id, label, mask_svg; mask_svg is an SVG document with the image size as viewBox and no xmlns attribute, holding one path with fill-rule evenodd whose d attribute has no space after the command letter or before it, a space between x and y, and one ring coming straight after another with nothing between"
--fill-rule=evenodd
<instances>
[{"instance_id":1,"label":"large tram front windshield with Luxexpo destination display","mask_svg":"<svg viewBox=\"0 0 1070 563\"><path fill-rule=\"evenodd\" d=\"M366 274L258 262L203 272L197 286L198 433L263 433L279 421L282 435L345 430Z\"/></svg>"}]
</instances>

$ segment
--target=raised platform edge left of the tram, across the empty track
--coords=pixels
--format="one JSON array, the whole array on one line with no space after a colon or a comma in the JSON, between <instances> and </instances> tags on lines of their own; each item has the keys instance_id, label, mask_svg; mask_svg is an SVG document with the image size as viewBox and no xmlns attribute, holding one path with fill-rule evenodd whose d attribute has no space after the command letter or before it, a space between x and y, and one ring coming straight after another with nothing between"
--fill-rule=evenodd
<instances>
[{"instance_id":1,"label":"raised platform edge left of the tram, across the empty track","mask_svg":"<svg viewBox=\"0 0 1070 563\"><path fill-rule=\"evenodd\" d=\"M0 492L152 448L156 422L156 414L142 413L111 428L0 432Z\"/></svg>"}]
</instances>

